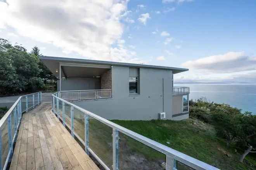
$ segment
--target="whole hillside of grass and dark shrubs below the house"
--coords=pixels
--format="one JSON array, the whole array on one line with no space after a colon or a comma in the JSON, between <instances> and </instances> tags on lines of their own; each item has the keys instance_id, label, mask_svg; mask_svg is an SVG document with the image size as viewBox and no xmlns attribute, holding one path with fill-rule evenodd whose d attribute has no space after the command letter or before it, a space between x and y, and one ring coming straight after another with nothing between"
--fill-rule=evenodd
<instances>
[{"instance_id":1,"label":"whole hillside of grass and dark shrubs below the house","mask_svg":"<svg viewBox=\"0 0 256 170\"><path fill-rule=\"evenodd\" d=\"M190 119L183 121L112 121L222 170L255 170L256 116L202 99L190 104ZM161 157L139 145L129 148L152 159ZM187 169L184 167L180 169Z\"/></svg>"}]
</instances>

